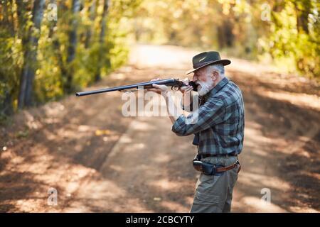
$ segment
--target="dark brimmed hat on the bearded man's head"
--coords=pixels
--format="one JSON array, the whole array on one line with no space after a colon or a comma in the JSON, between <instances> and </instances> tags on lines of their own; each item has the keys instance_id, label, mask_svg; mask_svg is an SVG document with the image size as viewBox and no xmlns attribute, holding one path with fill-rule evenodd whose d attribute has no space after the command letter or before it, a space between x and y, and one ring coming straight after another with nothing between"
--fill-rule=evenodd
<instances>
[{"instance_id":1,"label":"dark brimmed hat on the bearded man's head","mask_svg":"<svg viewBox=\"0 0 320 227\"><path fill-rule=\"evenodd\" d=\"M188 70L186 74L194 72L202 67L207 65L229 65L231 63L228 59L221 59L219 52L217 51L208 51L208 52L201 52L200 54L194 56L192 58L193 69Z\"/></svg>"}]
</instances>

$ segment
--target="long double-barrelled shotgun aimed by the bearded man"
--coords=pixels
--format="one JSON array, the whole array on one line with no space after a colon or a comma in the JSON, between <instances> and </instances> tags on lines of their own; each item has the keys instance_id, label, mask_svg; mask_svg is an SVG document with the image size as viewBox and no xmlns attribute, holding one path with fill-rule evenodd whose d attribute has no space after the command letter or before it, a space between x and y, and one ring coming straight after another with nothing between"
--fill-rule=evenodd
<instances>
[{"instance_id":1,"label":"long double-barrelled shotgun aimed by the bearded man","mask_svg":"<svg viewBox=\"0 0 320 227\"><path fill-rule=\"evenodd\" d=\"M152 84L166 85L169 87L171 86L171 89L173 89L173 90L178 90L178 89L180 89L180 87L187 86L179 79L159 79L159 80L155 80L152 82L142 82L142 83L129 84L129 85L118 86L118 87L108 87L108 88L97 89L97 90L88 91L88 92L77 92L77 93L75 93L75 95L76 96L85 96L85 95L89 95L89 94L100 94L100 93L104 93L104 92L114 92L114 91L132 92L132 89L133 89L133 91L136 91L138 89L138 87L143 87L144 89L152 88ZM191 85L193 87L193 91L197 91L198 85L195 82L191 81L191 82L189 82L189 85Z\"/></svg>"}]
</instances>

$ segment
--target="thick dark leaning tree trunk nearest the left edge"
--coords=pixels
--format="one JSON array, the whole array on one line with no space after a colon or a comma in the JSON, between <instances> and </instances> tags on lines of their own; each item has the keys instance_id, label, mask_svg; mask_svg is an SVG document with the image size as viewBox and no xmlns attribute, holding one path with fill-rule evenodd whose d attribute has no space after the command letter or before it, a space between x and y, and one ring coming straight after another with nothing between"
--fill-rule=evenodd
<instances>
[{"instance_id":1,"label":"thick dark leaning tree trunk nearest the left edge","mask_svg":"<svg viewBox=\"0 0 320 227\"><path fill-rule=\"evenodd\" d=\"M28 42L26 43L26 51L24 52L23 69L20 77L20 90L18 96L18 108L31 106L33 80L36 72L36 57L38 49L38 39L40 36L40 26L43 18L43 10L46 0L35 0L32 11L33 26L29 31ZM36 33L36 34L35 34Z\"/></svg>"}]
</instances>

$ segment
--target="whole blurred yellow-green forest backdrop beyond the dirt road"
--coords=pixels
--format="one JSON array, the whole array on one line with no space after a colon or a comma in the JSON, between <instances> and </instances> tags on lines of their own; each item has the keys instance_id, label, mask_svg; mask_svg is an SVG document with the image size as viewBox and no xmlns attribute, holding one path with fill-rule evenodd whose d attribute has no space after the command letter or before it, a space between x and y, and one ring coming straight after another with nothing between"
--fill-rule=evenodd
<instances>
[{"instance_id":1,"label":"whole blurred yellow-green forest backdrop beyond the dirt road","mask_svg":"<svg viewBox=\"0 0 320 227\"><path fill-rule=\"evenodd\" d=\"M320 76L316 0L1 0L0 118L72 94L133 43L219 50Z\"/></svg>"}]
</instances>

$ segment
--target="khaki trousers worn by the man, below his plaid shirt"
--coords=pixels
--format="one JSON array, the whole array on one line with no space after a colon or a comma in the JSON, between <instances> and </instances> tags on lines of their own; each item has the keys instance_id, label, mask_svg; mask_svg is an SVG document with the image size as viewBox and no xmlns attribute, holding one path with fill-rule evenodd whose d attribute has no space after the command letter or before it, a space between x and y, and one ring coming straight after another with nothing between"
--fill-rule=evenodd
<instances>
[{"instance_id":1,"label":"khaki trousers worn by the man, below his plaid shirt","mask_svg":"<svg viewBox=\"0 0 320 227\"><path fill-rule=\"evenodd\" d=\"M236 156L206 157L203 162L229 166L238 160ZM238 168L219 175L203 175L201 173L196 184L196 192L191 206L191 213L225 213L231 210L233 187L238 179Z\"/></svg>"}]
</instances>

